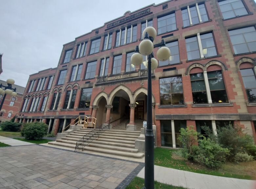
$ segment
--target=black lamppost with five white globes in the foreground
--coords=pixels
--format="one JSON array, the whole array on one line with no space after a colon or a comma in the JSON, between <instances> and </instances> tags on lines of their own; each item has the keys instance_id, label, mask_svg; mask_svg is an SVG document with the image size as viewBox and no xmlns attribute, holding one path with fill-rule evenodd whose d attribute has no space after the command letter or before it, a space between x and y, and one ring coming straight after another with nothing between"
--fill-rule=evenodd
<instances>
[{"instance_id":1,"label":"black lamppost with five white globes in the foreground","mask_svg":"<svg viewBox=\"0 0 256 189\"><path fill-rule=\"evenodd\" d=\"M154 189L154 133L152 127L152 84L151 70L158 66L158 61L153 54L153 41L157 36L157 31L154 27L146 27L143 31L144 39L139 46L136 46L135 53L131 57L131 63L139 66L144 56L148 56L148 97L147 97L147 129L145 134L145 189ZM160 48L157 51L158 60L165 61L170 57L170 49L165 46L164 40L161 41Z\"/></svg>"}]
</instances>

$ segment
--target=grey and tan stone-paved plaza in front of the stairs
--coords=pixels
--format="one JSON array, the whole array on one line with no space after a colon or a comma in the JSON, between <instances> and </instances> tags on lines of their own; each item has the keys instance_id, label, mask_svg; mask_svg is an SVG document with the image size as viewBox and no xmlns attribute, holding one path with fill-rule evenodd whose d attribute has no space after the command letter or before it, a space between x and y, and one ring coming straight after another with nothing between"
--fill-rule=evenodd
<instances>
[{"instance_id":1,"label":"grey and tan stone-paved plaza in front of the stairs","mask_svg":"<svg viewBox=\"0 0 256 189\"><path fill-rule=\"evenodd\" d=\"M0 148L0 188L124 189L143 163L41 145Z\"/></svg>"}]
</instances>

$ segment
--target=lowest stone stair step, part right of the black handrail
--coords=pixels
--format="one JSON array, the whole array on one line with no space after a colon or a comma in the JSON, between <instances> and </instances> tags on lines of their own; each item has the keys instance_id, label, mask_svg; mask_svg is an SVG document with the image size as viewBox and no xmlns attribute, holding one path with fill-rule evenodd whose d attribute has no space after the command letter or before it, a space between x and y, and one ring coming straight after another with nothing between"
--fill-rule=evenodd
<instances>
[{"instance_id":1,"label":"lowest stone stair step, part right of the black handrail","mask_svg":"<svg viewBox=\"0 0 256 189\"><path fill-rule=\"evenodd\" d=\"M119 155L119 156L126 156L126 157L132 157L132 158L141 158L144 156L143 153L140 152L123 152L123 151L117 151L117 150L110 150L105 148L96 148L91 146L85 146L84 150L94 151L94 152L100 152L105 154L113 154L113 155Z\"/></svg>"}]
</instances>

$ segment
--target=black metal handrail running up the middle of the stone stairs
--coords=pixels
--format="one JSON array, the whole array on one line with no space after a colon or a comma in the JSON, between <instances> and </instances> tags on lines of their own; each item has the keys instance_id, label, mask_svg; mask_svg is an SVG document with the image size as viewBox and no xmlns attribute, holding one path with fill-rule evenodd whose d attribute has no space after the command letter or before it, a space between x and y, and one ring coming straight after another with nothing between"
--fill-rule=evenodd
<instances>
[{"instance_id":1,"label":"black metal handrail running up the middle of the stone stairs","mask_svg":"<svg viewBox=\"0 0 256 189\"><path fill-rule=\"evenodd\" d=\"M105 132L108 129L110 129L110 121L106 121L105 123L101 124L101 126L88 132L79 141L76 142L75 152L80 150L83 151L85 146L87 146L90 142L98 138L99 135L101 135L103 132Z\"/></svg>"}]
</instances>

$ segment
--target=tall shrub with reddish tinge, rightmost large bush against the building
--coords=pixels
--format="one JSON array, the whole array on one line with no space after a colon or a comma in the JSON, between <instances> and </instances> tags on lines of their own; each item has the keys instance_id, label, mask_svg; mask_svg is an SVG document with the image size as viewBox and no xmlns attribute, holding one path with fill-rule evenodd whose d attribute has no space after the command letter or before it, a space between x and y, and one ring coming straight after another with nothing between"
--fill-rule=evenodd
<instances>
[{"instance_id":1,"label":"tall shrub with reddish tinge, rightmost large bush against the building","mask_svg":"<svg viewBox=\"0 0 256 189\"><path fill-rule=\"evenodd\" d=\"M244 133L239 126L231 124L221 127L218 131L218 141L222 147L230 150L228 160L233 162L236 154L246 152L246 146L254 144L252 136Z\"/></svg>"}]
</instances>

